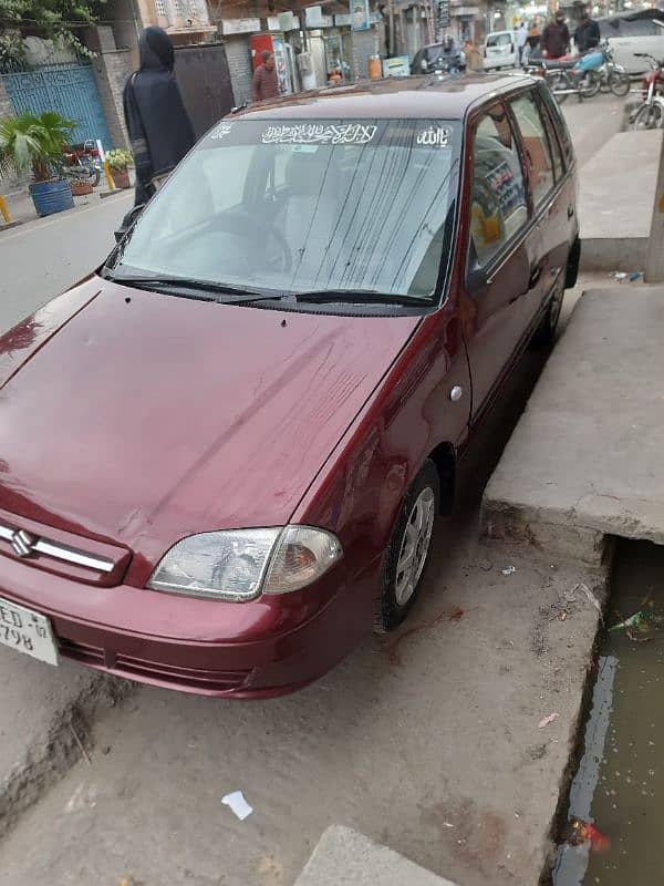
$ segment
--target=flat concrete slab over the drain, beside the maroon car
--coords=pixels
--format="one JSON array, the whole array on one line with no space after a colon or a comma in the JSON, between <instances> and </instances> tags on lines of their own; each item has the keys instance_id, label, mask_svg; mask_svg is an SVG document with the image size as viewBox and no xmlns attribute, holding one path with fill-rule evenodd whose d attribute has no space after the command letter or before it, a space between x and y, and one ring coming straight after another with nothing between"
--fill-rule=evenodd
<instances>
[{"instance_id":1,"label":"flat concrete slab over the drain, beside the maroon car","mask_svg":"<svg viewBox=\"0 0 664 886\"><path fill-rule=\"evenodd\" d=\"M583 296L487 486L490 536L585 563L664 544L663 329L664 287Z\"/></svg>"}]
</instances>

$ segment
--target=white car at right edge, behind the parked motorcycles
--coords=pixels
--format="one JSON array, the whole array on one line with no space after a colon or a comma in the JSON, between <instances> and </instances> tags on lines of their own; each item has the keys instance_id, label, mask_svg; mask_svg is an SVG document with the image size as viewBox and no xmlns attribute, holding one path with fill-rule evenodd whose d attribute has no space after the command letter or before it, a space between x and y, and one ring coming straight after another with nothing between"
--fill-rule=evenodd
<instances>
[{"instance_id":1,"label":"white car at right edge, behind the parked motorcycles","mask_svg":"<svg viewBox=\"0 0 664 886\"><path fill-rule=\"evenodd\" d=\"M642 74L650 61L642 53L664 60L664 12L658 9L598 19L600 35L609 42L616 64L629 74Z\"/></svg>"}]
</instances>

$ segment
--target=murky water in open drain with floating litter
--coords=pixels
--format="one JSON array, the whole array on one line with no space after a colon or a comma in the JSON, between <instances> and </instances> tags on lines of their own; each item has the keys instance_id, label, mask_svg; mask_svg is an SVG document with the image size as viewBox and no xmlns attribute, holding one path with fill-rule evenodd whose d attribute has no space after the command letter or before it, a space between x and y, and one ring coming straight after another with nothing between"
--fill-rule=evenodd
<instances>
[{"instance_id":1,"label":"murky water in open drain with floating litter","mask_svg":"<svg viewBox=\"0 0 664 886\"><path fill-rule=\"evenodd\" d=\"M664 882L664 547L620 543L554 886ZM590 826L587 826L590 825ZM575 845L572 845L575 844Z\"/></svg>"}]
</instances>

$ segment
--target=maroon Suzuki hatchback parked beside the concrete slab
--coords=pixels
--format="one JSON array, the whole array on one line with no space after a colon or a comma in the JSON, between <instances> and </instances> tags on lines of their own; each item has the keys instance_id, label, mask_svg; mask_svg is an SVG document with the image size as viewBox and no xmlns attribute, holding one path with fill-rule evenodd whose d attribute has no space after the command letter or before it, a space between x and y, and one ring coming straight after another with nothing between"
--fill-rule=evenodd
<instances>
[{"instance_id":1,"label":"maroon Suzuki hatchback parked beside the concrete slab","mask_svg":"<svg viewBox=\"0 0 664 886\"><path fill-rule=\"evenodd\" d=\"M574 282L574 169L526 76L219 123L0 340L0 641L264 698L395 628L469 435Z\"/></svg>"}]
</instances>

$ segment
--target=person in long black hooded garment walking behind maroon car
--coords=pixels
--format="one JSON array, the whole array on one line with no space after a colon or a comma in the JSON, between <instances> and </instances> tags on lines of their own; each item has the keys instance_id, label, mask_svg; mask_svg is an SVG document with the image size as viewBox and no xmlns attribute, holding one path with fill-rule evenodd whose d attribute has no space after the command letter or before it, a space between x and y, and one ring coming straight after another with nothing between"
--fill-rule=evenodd
<instances>
[{"instance_id":1,"label":"person in long black hooded garment walking behind maroon car","mask_svg":"<svg viewBox=\"0 0 664 886\"><path fill-rule=\"evenodd\" d=\"M175 80L175 52L160 28L146 28L138 40L141 68L123 94L125 123L136 167L136 206L194 146L194 127Z\"/></svg>"}]
</instances>

